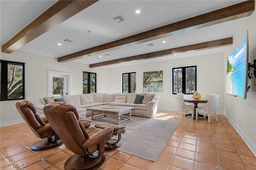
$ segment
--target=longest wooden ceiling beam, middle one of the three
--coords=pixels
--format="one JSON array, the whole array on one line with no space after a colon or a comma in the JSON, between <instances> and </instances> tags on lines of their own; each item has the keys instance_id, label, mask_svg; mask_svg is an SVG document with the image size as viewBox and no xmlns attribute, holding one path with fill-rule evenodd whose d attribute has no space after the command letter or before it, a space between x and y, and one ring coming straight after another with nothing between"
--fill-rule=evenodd
<instances>
[{"instance_id":1,"label":"longest wooden ceiling beam, middle one of the three","mask_svg":"<svg viewBox=\"0 0 256 170\"><path fill-rule=\"evenodd\" d=\"M204 28L206 26L212 26L214 24L243 18L246 16L250 16L253 11L254 0L244 1L232 6L228 6L226 8L208 12L206 14L195 16L186 20L175 22L173 24L142 32L140 34L136 34L127 38L116 40L114 42L106 43L76 53L72 53L70 55L59 57L58 62L72 61L86 56L118 49L124 46L148 42L150 40L156 40L174 34L188 32L191 30L196 30L198 28Z\"/></svg>"}]
</instances>

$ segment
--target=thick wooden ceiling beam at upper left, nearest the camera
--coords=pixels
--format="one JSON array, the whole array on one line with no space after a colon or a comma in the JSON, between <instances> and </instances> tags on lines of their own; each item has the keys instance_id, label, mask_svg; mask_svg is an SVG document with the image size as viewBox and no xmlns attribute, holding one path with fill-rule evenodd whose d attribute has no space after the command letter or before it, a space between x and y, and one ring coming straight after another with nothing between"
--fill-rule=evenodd
<instances>
[{"instance_id":1,"label":"thick wooden ceiling beam at upper left, nearest the camera","mask_svg":"<svg viewBox=\"0 0 256 170\"><path fill-rule=\"evenodd\" d=\"M12 53L97 1L59 0L11 40L6 42L2 46L2 52Z\"/></svg>"}]
</instances>

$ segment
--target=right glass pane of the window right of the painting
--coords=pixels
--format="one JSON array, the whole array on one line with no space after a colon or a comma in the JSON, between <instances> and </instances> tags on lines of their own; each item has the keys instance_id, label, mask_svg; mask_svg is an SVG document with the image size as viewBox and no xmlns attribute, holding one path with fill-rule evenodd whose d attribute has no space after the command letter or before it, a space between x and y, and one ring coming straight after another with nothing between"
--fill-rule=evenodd
<instances>
[{"instance_id":1,"label":"right glass pane of the window right of the painting","mask_svg":"<svg viewBox=\"0 0 256 170\"><path fill-rule=\"evenodd\" d=\"M186 93L196 92L196 67L186 68Z\"/></svg>"}]
</instances>

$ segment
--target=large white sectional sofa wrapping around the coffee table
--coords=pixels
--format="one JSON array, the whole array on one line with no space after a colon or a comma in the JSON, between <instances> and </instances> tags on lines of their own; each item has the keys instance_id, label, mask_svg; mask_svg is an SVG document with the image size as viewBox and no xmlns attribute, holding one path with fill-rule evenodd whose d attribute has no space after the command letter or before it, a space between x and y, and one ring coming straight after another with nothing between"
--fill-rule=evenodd
<instances>
[{"instance_id":1,"label":"large white sectional sofa wrapping around the coffee table","mask_svg":"<svg viewBox=\"0 0 256 170\"><path fill-rule=\"evenodd\" d=\"M136 98L137 95L138 97ZM142 96L144 99L142 103L144 104L140 103L140 100L138 102L138 99L142 99ZM160 97L156 96L155 93L89 93L81 95L64 95L62 98L66 103L76 107L80 117L90 116L90 107L116 103L120 106L134 107L134 109L132 109L132 116L151 118L156 114ZM61 97L55 97L51 100L54 101L55 99L60 100ZM45 100L39 99L33 103L36 106L37 113L41 117L44 117Z\"/></svg>"}]
</instances>

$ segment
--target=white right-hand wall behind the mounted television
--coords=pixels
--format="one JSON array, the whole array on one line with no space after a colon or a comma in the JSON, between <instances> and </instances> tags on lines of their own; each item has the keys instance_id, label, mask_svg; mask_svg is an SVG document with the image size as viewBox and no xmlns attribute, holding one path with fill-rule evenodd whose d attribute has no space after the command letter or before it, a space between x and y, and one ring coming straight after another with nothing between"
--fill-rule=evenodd
<instances>
[{"instance_id":1,"label":"white right-hand wall behind the mounted television","mask_svg":"<svg viewBox=\"0 0 256 170\"><path fill-rule=\"evenodd\" d=\"M256 12L252 16L247 17L239 30L233 36L233 45L225 51L225 56L230 55L236 50L246 35L248 30L249 38L249 62L252 63L256 59ZM224 58L226 71L227 59ZM226 86L226 76L224 77ZM241 97L232 97L225 95L225 113L226 117L232 123L233 127L239 132L249 148L256 156L256 86L254 86L254 78L250 79L248 86L250 89L247 93L247 99ZM225 93L226 93L226 89Z\"/></svg>"}]
</instances>

